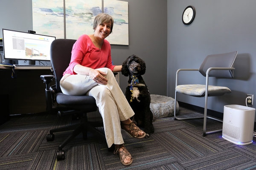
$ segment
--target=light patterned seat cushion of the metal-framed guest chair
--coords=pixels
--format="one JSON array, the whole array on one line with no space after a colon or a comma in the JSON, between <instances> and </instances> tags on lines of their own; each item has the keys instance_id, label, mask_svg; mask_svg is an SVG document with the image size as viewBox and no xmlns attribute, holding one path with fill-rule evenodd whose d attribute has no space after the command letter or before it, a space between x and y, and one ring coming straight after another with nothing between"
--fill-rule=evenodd
<instances>
[{"instance_id":1,"label":"light patterned seat cushion of the metal-framed guest chair","mask_svg":"<svg viewBox=\"0 0 256 170\"><path fill-rule=\"evenodd\" d=\"M189 96L205 95L205 85L177 85L175 90ZM227 87L208 85L208 96L221 96L225 93L231 93L231 90Z\"/></svg>"}]
</instances>

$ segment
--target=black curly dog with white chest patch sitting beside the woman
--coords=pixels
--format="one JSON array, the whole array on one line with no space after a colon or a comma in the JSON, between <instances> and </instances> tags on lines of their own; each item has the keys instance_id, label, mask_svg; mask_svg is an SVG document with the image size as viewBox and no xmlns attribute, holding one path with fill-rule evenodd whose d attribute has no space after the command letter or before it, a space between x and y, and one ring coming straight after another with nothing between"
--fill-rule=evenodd
<instances>
[{"instance_id":1,"label":"black curly dog with white chest patch sitting beside the woman","mask_svg":"<svg viewBox=\"0 0 256 170\"><path fill-rule=\"evenodd\" d=\"M132 55L123 62L121 73L129 76L125 97L135 113L134 120L138 127L144 127L145 133L148 134L146 137L149 137L150 133L154 133L154 126L153 113L150 110L150 94L141 76L145 71L145 62L140 57Z\"/></svg>"}]
</instances>

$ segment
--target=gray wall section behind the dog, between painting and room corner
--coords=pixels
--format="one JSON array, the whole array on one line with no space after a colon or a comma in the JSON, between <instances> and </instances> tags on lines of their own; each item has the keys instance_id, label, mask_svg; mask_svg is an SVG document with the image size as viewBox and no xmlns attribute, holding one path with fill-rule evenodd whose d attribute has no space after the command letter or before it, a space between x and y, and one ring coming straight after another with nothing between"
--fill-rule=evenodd
<instances>
[{"instance_id":1,"label":"gray wall section behind the dog, between painting and room corner","mask_svg":"<svg viewBox=\"0 0 256 170\"><path fill-rule=\"evenodd\" d=\"M167 1L123 0L128 2L129 45L111 45L116 64L130 55L141 57L146 63L143 76L151 94L167 94ZM120 76L123 91L128 77Z\"/></svg>"}]
</instances>

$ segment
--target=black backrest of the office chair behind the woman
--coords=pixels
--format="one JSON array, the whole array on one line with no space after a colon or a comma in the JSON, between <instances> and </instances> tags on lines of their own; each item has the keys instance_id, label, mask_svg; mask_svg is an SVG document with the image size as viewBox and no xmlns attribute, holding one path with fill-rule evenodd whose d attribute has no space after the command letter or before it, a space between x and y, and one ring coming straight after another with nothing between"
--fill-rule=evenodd
<instances>
[{"instance_id":1,"label":"black backrest of the office chair behind the woman","mask_svg":"<svg viewBox=\"0 0 256 170\"><path fill-rule=\"evenodd\" d=\"M70 63L71 51L76 40L56 39L50 48L51 64L55 76L56 93L61 92L60 80Z\"/></svg>"}]
</instances>

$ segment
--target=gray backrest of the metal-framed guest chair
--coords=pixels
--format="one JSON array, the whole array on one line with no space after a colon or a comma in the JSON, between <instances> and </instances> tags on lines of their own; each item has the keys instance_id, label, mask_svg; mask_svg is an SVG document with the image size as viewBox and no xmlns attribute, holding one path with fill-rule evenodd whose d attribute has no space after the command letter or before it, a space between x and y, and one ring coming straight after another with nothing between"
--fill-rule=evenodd
<instances>
[{"instance_id":1,"label":"gray backrest of the metal-framed guest chair","mask_svg":"<svg viewBox=\"0 0 256 170\"><path fill-rule=\"evenodd\" d=\"M204 62L199 67L199 72L206 77L206 71L211 67L226 67L233 68L236 59L237 51L233 51L225 54L213 54L208 55ZM209 77L234 77L233 70L212 70L209 73Z\"/></svg>"}]
</instances>

